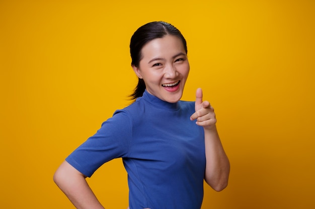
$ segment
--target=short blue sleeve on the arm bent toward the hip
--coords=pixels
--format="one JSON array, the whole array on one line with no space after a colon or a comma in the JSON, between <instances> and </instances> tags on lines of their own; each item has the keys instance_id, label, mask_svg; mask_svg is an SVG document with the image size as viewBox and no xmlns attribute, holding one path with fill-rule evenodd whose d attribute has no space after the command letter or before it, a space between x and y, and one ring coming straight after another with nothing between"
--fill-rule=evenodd
<instances>
[{"instance_id":1,"label":"short blue sleeve on the arm bent toward the hip","mask_svg":"<svg viewBox=\"0 0 315 209\"><path fill-rule=\"evenodd\" d=\"M66 161L86 176L92 174L105 162L126 157L132 138L132 124L128 114L118 110L103 122L95 135L77 147Z\"/></svg>"}]
</instances>

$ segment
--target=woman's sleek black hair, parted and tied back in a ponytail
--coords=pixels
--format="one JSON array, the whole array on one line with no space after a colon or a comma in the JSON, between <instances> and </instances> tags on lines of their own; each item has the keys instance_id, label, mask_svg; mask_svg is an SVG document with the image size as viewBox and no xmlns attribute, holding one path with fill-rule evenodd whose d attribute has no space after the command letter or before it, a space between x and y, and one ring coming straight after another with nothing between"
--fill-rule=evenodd
<instances>
[{"instance_id":1,"label":"woman's sleek black hair, parted and tied back in a ponytail","mask_svg":"<svg viewBox=\"0 0 315 209\"><path fill-rule=\"evenodd\" d=\"M185 52L187 54L187 43L182 35L182 33L175 28L173 25L159 21L147 23L140 28L138 28L131 37L130 40L130 56L131 56L131 65L139 67L140 60L142 59L141 50L143 46L157 38L163 38L166 35L173 35L180 38L183 42ZM130 95L132 100L135 100L138 97L143 95L145 90L145 83L143 79L138 78L138 84L134 89L133 93Z\"/></svg>"}]
</instances>

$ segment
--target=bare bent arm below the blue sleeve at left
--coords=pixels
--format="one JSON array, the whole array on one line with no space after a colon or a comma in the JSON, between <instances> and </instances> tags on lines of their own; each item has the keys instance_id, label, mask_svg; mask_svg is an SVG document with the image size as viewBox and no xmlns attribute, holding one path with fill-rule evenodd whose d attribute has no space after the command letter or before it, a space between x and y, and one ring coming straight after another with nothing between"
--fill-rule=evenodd
<instances>
[{"instance_id":1,"label":"bare bent arm below the blue sleeve at left","mask_svg":"<svg viewBox=\"0 0 315 209\"><path fill-rule=\"evenodd\" d=\"M54 181L77 209L104 209L85 176L66 161L55 172Z\"/></svg>"}]
</instances>

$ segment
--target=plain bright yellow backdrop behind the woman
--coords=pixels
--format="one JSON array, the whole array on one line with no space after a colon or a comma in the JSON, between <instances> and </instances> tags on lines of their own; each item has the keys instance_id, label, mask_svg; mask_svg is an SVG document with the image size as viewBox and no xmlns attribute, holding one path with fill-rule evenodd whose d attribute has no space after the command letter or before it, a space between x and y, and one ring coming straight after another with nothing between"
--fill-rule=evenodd
<instances>
[{"instance_id":1,"label":"plain bright yellow backdrop behind the woman","mask_svg":"<svg viewBox=\"0 0 315 209\"><path fill-rule=\"evenodd\" d=\"M182 99L202 87L231 163L202 208L314 208L314 1L0 1L0 207L73 208L52 181L136 85L133 32L166 21L188 42ZM121 159L88 179L126 208Z\"/></svg>"}]
</instances>

